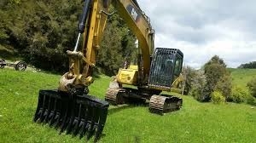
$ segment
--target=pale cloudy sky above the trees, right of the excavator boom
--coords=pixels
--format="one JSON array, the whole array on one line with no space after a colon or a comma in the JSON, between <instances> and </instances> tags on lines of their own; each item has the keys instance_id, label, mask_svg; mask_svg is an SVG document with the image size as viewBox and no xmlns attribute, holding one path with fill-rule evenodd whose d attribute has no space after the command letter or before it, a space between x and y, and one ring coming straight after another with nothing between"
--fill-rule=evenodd
<instances>
[{"instance_id":1,"label":"pale cloudy sky above the trees, right of the excavator boom","mask_svg":"<svg viewBox=\"0 0 256 143\"><path fill-rule=\"evenodd\" d=\"M228 67L256 60L255 0L137 0L155 30L155 47L181 49L200 68L213 55Z\"/></svg>"}]
</instances>

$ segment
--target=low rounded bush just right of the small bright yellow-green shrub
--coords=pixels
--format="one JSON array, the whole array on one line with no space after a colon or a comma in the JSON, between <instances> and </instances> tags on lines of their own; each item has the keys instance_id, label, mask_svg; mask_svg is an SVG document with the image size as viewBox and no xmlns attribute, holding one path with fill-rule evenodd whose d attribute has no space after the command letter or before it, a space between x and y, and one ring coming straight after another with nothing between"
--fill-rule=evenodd
<instances>
[{"instance_id":1,"label":"low rounded bush just right of the small bright yellow-green shrub","mask_svg":"<svg viewBox=\"0 0 256 143\"><path fill-rule=\"evenodd\" d=\"M229 101L241 103L241 102L246 102L249 97L250 95L247 93L247 91L239 87L234 87L232 89L232 93L229 98Z\"/></svg>"}]
</instances>

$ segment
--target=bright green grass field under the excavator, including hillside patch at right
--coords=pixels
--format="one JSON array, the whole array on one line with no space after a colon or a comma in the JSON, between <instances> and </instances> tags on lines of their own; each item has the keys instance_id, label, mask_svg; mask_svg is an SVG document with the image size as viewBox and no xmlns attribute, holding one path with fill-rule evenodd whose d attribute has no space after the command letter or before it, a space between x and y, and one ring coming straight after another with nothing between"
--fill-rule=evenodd
<instances>
[{"instance_id":1,"label":"bright green grass field under the excavator, including hillside patch at right","mask_svg":"<svg viewBox=\"0 0 256 143\"><path fill-rule=\"evenodd\" d=\"M254 72L254 73L253 73ZM244 86L255 71L232 72ZM39 89L56 89L59 75L0 70L0 142L86 142L33 123ZM110 78L101 76L90 94L104 97ZM213 105L183 96L180 111L158 116L147 106L110 106L99 142L255 142L256 108L246 104ZM92 140L89 140L91 142Z\"/></svg>"}]
</instances>

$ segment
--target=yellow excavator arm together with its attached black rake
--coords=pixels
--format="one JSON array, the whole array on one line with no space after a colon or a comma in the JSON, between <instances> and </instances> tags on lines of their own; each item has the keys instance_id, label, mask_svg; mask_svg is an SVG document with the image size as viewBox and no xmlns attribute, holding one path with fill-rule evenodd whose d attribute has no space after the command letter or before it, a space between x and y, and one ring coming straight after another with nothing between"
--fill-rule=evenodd
<instances>
[{"instance_id":1,"label":"yellow excavator arm together with its attached black rake","mask_svg":"<svg viewBox=\"0 0 256 143\"><path fill-rule=\"evenodd\" d=\"M67 134L80 134L81 137L88 133L88 139L95 133L95 139L99 139L109 105L107 101L89 95L88 86L93 83L96 53L101 49L111 3L137 36L142 51L143 71L149 73L150 54L154 49L154 30L137 1L84 0L77 42L73 50L67 50L69 71L61 77L57 90L39 90L34 122L49 123L50 126L60 128L61 133L66 131Z\"/></svg>"}]
</instances>

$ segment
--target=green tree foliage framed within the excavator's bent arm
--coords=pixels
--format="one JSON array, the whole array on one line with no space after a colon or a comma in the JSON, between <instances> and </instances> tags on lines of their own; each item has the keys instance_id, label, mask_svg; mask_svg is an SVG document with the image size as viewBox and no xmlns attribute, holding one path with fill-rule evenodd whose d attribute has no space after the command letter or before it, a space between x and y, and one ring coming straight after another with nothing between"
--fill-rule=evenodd
<instances>
[{"instance_id":1,"label":"green tree foliage framed within the excavator's bent arm","mask_svg":"<svg viewBox=\"0 0 256 143\"><path fill-rule=\"evenodd\" d=\"M102 67L102 72L108 76L117 74L125 58L130 59L127 55L132 55L136 51L135 41L136 37L119 14L111 15L97 55L97 65Z\"/></svg>"}]
</instances>

